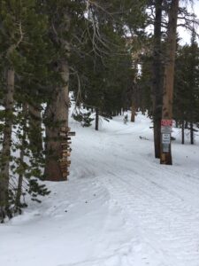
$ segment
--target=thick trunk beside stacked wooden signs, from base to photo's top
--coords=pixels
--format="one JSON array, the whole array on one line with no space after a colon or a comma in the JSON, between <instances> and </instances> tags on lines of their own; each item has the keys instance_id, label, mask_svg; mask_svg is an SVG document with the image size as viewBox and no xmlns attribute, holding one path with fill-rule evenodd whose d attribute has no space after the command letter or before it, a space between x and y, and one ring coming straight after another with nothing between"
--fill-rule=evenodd
<instances>
[{"instance_id":1,"label":"thick trunk beside stacked wooden signs, from base to photo's top","mask_svg":"<svg viewBox=\"0 0 199 266\"><path fill-rule=\"evenodd\" d=\"M44 175L47 180L62 181L66 177L63 177L58 162L62 142L59 133L61 128L68 128L68 59L70 56L68 35L71 25L70 6L65 1L51 1L44 6L44 12L49 13L49 37L57 52L57 56L52 62L52 70L57 74L57 79L52 83L53 90L51 90L45 113L46 161Z\"/></svg>"}]
</instances>

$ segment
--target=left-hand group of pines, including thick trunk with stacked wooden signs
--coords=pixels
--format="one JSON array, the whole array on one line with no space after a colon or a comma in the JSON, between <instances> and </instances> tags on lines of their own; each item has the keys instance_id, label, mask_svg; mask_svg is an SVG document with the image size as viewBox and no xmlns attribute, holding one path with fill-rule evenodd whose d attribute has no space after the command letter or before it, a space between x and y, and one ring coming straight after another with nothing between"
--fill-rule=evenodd
<instances>
[{"instance_id":1,"label":"left-hand group of pines, including thick trunk with stacked wooden signs","mask_svg":"<svg viewBox=\"0 0 199 266\"><path fill-rule=\"evenodd\" d=\"M1 221L20 212L26 193L48 193L40 179L65 179L69 90L77 106L119 110L134 74L126 32L142 35L144 23L144 1L0 1Z\"/></svg>"}]
</instances>

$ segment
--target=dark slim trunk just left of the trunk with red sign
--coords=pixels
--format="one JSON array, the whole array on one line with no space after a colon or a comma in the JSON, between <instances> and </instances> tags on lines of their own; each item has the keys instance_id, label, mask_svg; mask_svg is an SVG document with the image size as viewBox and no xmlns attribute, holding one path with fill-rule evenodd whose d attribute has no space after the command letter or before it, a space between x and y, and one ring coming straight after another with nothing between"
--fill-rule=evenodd
<instances>
[{"instance_id":1,"label":"dark slim trunk just left of the trunk with red sign","mask_svg":"<svg viewBox=\"0 0 199 266\"><path fill-rule=\"evenodd\" d=\"M152 102L153 102L154 146L155 146L156 158L160 158L161 119L162 119L162 105L163 105L162 74L161 74L162 5L163 5L163 0L156 1L156 19L154 24Z\"/></svg>"}]
</instances>

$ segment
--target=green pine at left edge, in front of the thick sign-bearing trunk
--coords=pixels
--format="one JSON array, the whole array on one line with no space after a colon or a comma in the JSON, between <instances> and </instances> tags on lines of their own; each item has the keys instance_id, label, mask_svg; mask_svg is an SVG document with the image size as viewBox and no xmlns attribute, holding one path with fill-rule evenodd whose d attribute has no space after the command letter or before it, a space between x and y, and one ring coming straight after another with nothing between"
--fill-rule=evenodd
<instances>
[{"instance_id":1,"label":"green pine at left edge, in front of the thick sign-bearing trunk","mask_svg":"<svg viewBox=\"0 0 199 266\"><path fill-rule=\"evenodd\" d=\"M0 174L0 219L11 216L20 207L22 195L22 180L26 177L27 186L33 183L31 177L41 177L38 160L31 158L31 147L27 147L26 112L22 106L27 106L28 98L38 94L33 89L35 84L42 84L46 43L42 36L46 31L46 18L38 13L36 2L1 1L0 12L0 48L1 48L1 86L4 110L1 110L2 124L2 153ZM43 57L41 53L43 52ZM43 65L40 65L45 63ZM14 131L14 135L13 132ZM15 136L15 138L12 138ZM19 150L20 156L13 153ZM25 163L25 156L29 157L29 165ZM13 175L13 176L12 176ZM18 187L13 178L18 178ZM35 179L34 184L37 183ZM38 185L41 193L45 188ZM17 207L17 208L18 208Z\"/></svg>"}]
</instances>

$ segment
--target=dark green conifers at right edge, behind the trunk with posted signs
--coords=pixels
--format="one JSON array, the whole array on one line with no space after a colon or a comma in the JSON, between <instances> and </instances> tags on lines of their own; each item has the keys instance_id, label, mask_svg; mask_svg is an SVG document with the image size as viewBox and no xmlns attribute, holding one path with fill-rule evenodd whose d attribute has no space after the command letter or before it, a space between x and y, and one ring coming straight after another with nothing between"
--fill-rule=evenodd
<instances>
[{"instance_id":1,"label":"dark green conifers at right edge, behind the trunk with posted signs","mask_svg":"<svg viewBox=\"0 0 199 266\"><path fill-rule=\"evenodd\" d=\"M193 29L190 44L179 46L176 55L173 118L181 128L181 142L185 142L185 128L190 131L190 143L199 122L199 47Z\"/></svg>"}]
</instances>

